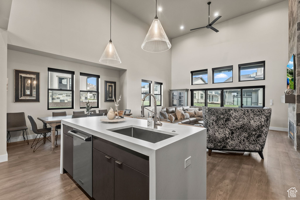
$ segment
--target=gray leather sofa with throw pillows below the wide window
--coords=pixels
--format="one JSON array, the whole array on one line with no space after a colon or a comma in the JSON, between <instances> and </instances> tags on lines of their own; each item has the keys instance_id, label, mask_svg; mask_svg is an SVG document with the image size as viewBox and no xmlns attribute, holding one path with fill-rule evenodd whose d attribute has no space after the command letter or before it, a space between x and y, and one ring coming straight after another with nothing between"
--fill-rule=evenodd
<instances>
[{"instance_id":1,"label":"gray leather sofa with throw pillows below the wide window","mask_svg":"<svg viewBox=\"0 0 300 200\"><path fill-rule=\"evenodd\" d=\"M202 117L190 117L189 119L177 119L176 116L176 109L180 108L183 111L187 111L188 108L199 108L199 110L202 110L202 106L180 106L180 107L162 107L161 111L166 112L168 115L171 114L175 117L174 122L171 122L173 124L190 124L190 125L194 125L194 124L199 124L199 121L202 121L203 118ZM158 116L159 116L159 112L158 112ZM161 121L168 121L170 122L170 120L168 119L160 119Z\"/></svg>"}]
</instances>

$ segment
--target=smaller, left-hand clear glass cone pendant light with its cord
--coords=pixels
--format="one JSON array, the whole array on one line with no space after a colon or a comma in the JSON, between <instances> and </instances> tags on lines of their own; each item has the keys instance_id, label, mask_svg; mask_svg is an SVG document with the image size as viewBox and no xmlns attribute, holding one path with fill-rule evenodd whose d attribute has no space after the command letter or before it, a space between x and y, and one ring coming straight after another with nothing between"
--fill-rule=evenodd
<instances>
[{"instance_id":1,"label":"smaller, left-hand clear glass cone pendant light with its cord","mask_svg":"<svg viewBox=\"0 0 300 200\"><path fill-rule=\"evenodd\" d=\"M117 53L115 46L113 45L112 35L112 1L110 0L110 42L107 44L99 62L108 65L121 64L120 57Z\"/></svg>"}]
</instances>

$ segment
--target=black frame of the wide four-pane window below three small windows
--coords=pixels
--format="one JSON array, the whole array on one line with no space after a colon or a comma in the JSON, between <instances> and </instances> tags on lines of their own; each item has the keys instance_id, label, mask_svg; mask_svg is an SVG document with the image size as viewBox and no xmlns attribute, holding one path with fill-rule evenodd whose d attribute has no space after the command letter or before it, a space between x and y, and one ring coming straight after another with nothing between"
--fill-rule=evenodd
<instances>
[{"instance_id":1,"label":"black frame of the wide four-pane window below three small windows","mask_svg":"<svg viewBox=\"0 0 300 200\"><path fill-rule=\"evenodd\" d=\"M208 90L220 90L220 107L224 107L224 90L241 90L241 97L243 97L243 90L244 89L257 89L262 88L262 108L265 107L265 85L259 85L259 86L244 86L244 87L218 87L218 88L201 88L201 89L191 89L190 94L191 97L193 96L194 91L205 91L205 101L204 105L207 106L207 91ZM245 96L246 97L246 96ZM190 99L190 105L194 105L194 99ZM245 106L247 107L247 106ZM241 108L243 108L243 98L241 98Z\"/></svg>"}]
</instances>

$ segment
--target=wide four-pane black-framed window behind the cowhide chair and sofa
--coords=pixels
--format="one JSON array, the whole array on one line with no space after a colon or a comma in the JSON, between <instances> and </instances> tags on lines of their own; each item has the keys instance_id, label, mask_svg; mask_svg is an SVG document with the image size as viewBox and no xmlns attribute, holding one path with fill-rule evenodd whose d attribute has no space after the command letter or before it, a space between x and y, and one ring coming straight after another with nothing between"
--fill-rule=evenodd
<instances>
[{"instance_id":1,"label":"wide four-pane black-framed window behind the cowhide chair and sofa","mask_svg":"<svg viewBox=\"0 0 300 200\"><path fill-rule=\"evenodd\" d=\"M192 89L191 96L193 106L242 108L265 106L265 86Z\"/></svg>"}]
</instances>

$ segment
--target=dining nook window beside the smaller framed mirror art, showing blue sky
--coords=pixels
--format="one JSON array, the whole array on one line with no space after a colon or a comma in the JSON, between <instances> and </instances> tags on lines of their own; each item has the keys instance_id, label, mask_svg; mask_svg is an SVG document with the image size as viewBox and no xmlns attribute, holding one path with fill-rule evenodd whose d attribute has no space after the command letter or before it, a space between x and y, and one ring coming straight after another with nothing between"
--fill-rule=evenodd
<instances>
[{"instance_id":1,"label":"dining nook window beside the smaller framed mirror art, showing blue sky","mask_svg":"<svg viewBox=\"0 0 300 200\"><path fill-rule=\"evenodd\" d=\"M99 107L99 78L99 75L80 72L80 108L85 108L87 101L91 107Z\"/></svg>"}]
</instances>

